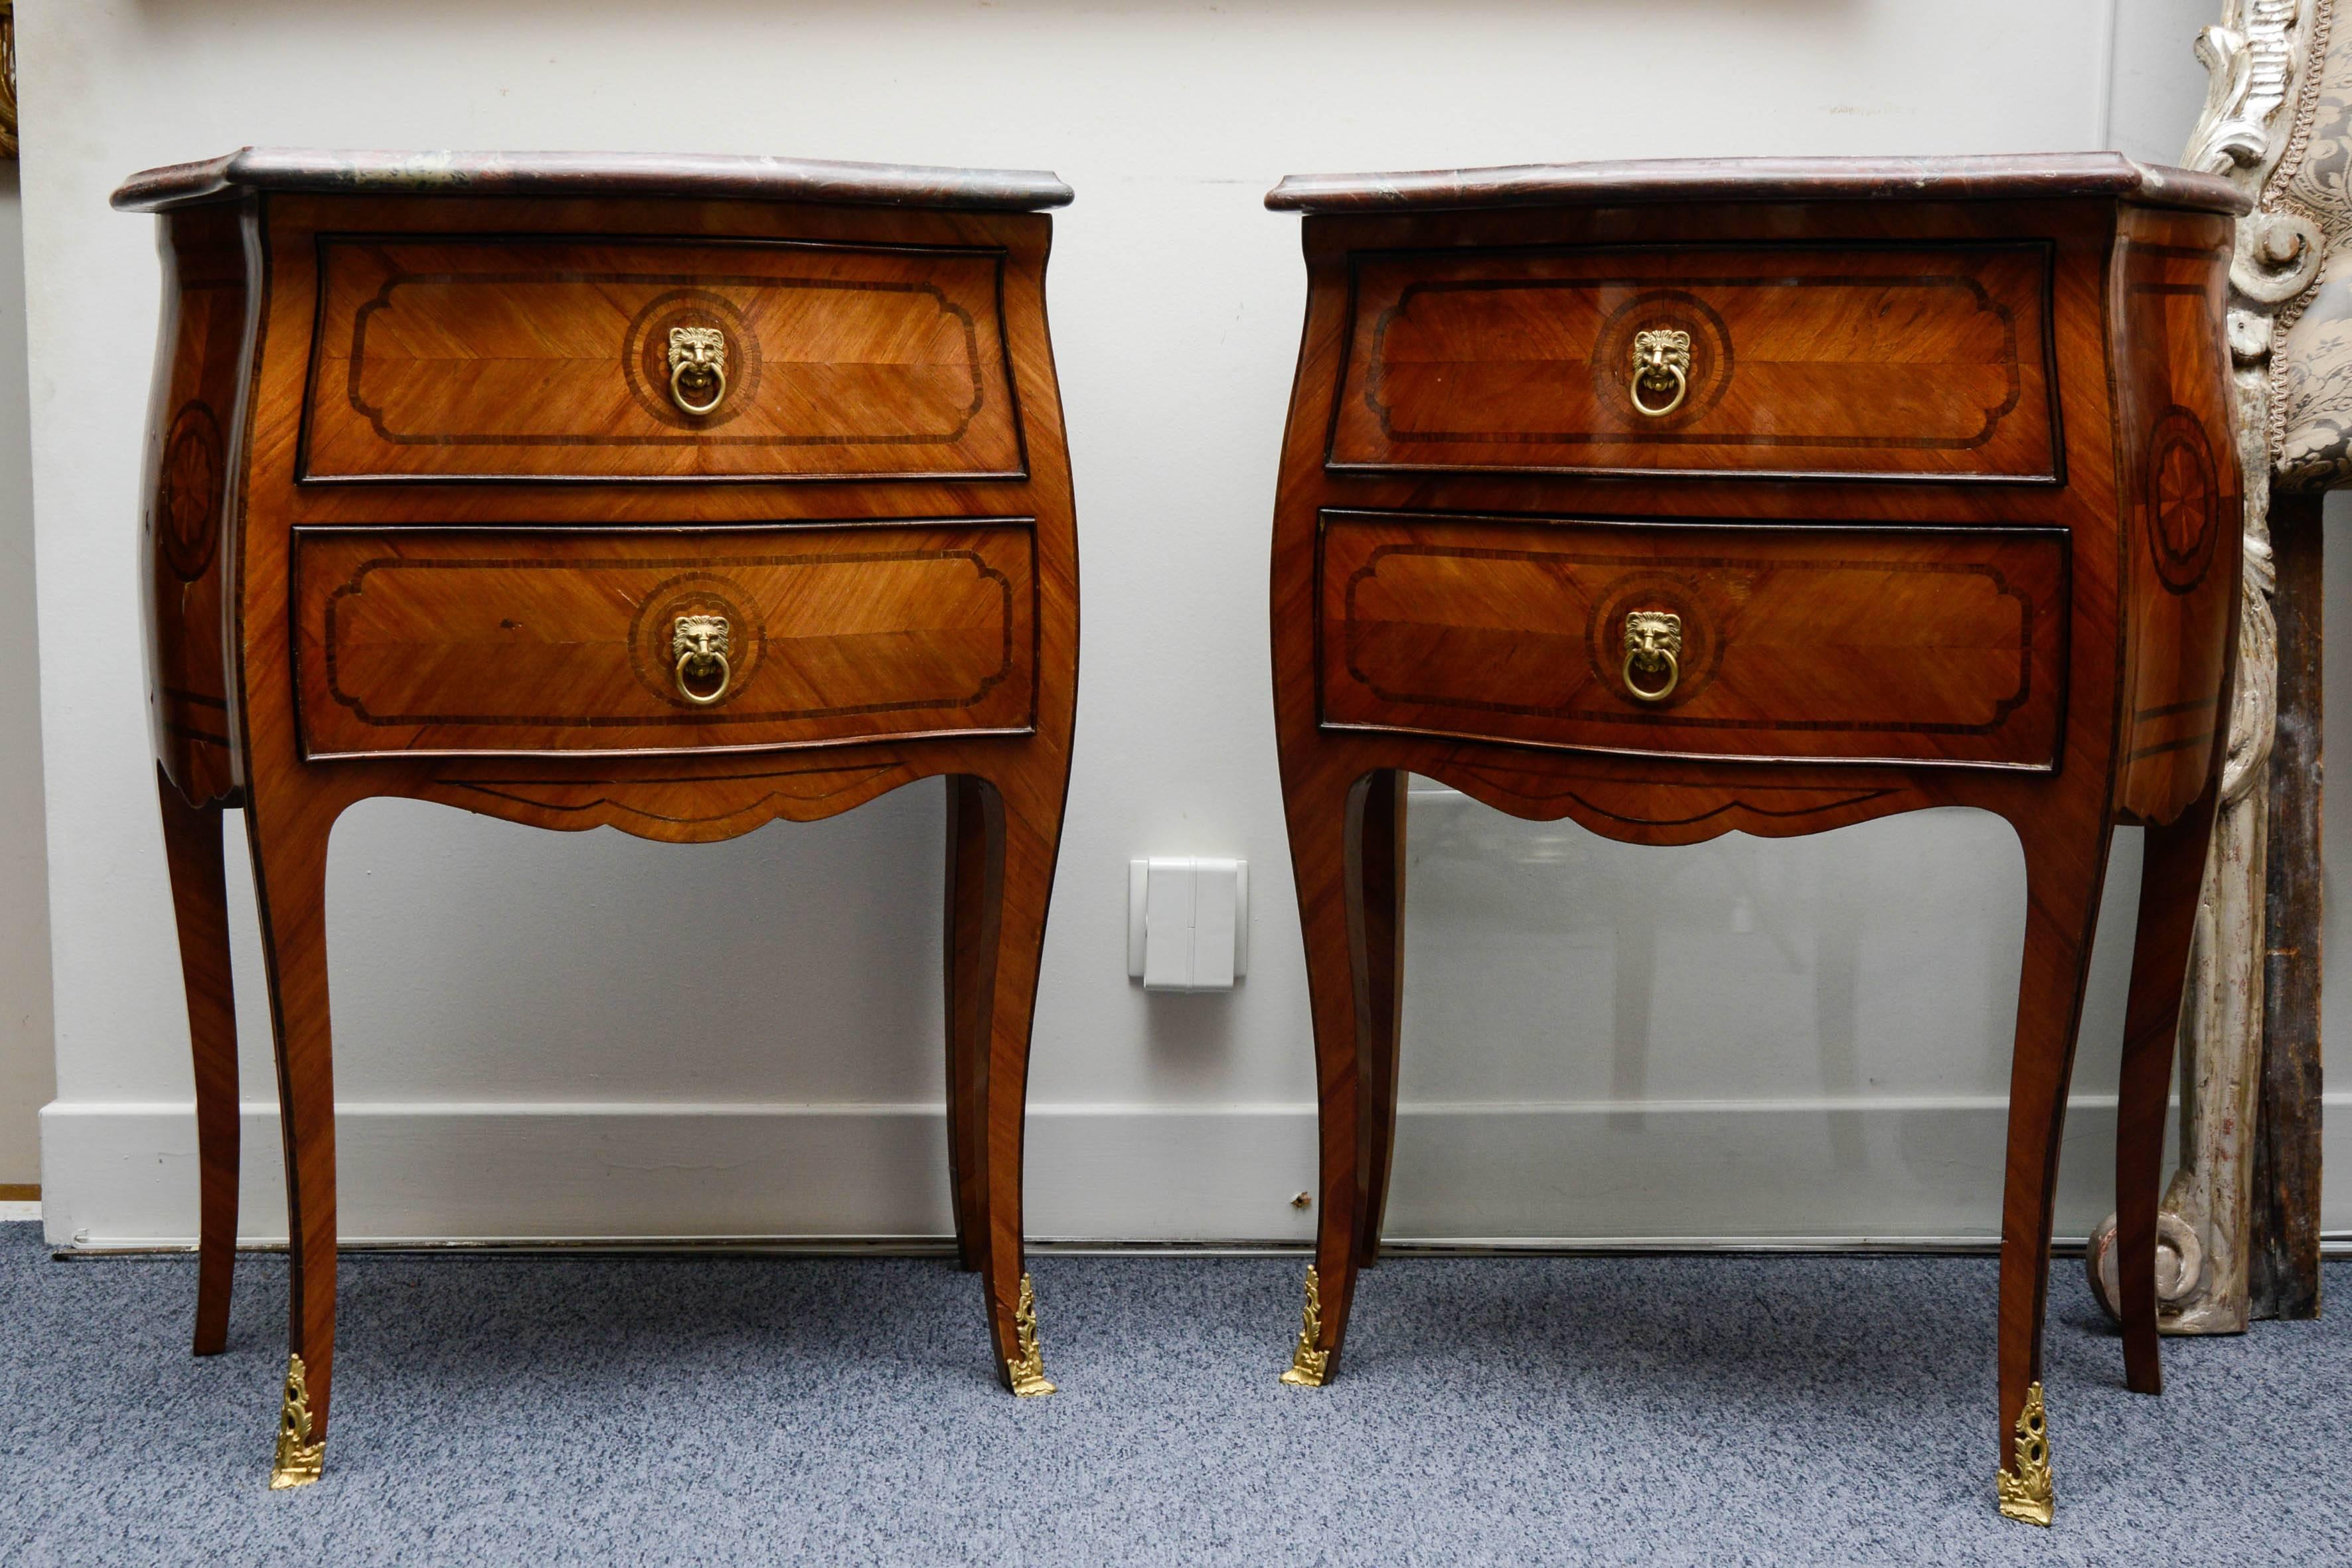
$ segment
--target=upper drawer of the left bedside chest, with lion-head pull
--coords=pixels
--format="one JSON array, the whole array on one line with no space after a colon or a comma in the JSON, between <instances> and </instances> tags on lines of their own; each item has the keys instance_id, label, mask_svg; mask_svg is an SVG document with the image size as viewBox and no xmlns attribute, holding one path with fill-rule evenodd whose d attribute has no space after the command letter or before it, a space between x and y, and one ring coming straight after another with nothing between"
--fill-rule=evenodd
<instances>
[{"instance_id":1,"label":"upper drawer of the left bedside chest, with lion-head pull","mask_svg":"<svg viewBox=\"0 0 2352 1568\"><path fill-rule=\"evenodd\" d=\"M325 235L299 475L1021 477L1002 270L993 249Z\"/></svg>"}]
</instances>

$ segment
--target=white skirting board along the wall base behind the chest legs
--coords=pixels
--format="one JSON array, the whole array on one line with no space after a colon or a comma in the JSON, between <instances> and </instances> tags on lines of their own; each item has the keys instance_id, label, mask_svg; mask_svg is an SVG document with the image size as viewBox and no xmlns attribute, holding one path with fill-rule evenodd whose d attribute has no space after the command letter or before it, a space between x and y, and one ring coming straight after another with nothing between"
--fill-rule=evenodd
<instances>
[{"instance_id":1,"label":"white skirting board along the wall base behind the chest legs","mask_svg":"<svg viewBox=\"0 0 2352 1568\"><path fill-rule=\"evenodd\" d=\"M2352 1164L2352 1093L2328 1095L2328 1112L2326 1154ZM249 1244L285 1241L275 1121L268 1103L245 1107ZM2004 1121L1999 1098L1404 1105L1388 1234L1515 1246L1990 1241ZM2058 1178L2063 1239L2079 1241L2114 1206L2112 1128L2112 1095L2074 1100ZM938 1105L362 1103L336 1112L336 1133L353 1246L908 1241L950 1225ZM1028 1232L1305 1244L1312 1215L1289 1204L1315 1185L1312 1140L1305 1105L1033 1105ZM49 1105L42 1190L56 1248L193 1244L193 1107ZM1693 1208L1710 1222L1693 1227ZM2352 1208L2324 1225L2352 1229Z\"/></svg>"}]
</instances>

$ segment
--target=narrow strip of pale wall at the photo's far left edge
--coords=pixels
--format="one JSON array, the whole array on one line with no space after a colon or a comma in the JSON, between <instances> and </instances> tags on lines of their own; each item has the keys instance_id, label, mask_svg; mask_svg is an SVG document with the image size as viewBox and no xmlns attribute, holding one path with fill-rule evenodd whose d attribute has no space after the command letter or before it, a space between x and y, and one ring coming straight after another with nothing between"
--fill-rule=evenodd
<instances>
[{"instance_id":1,"label":"narrow strip of pale wall at the photo's far left edge","mask_svg":"<svg viewBox=\"0 0 2352 1568\"><path fill-rule=\"evenodd\" d=\"M24 383L24 202L0 162L0 1187L40 1180L49 1072L49 896L40 818L33 430Z\"/></svg>"}]
</instances>

